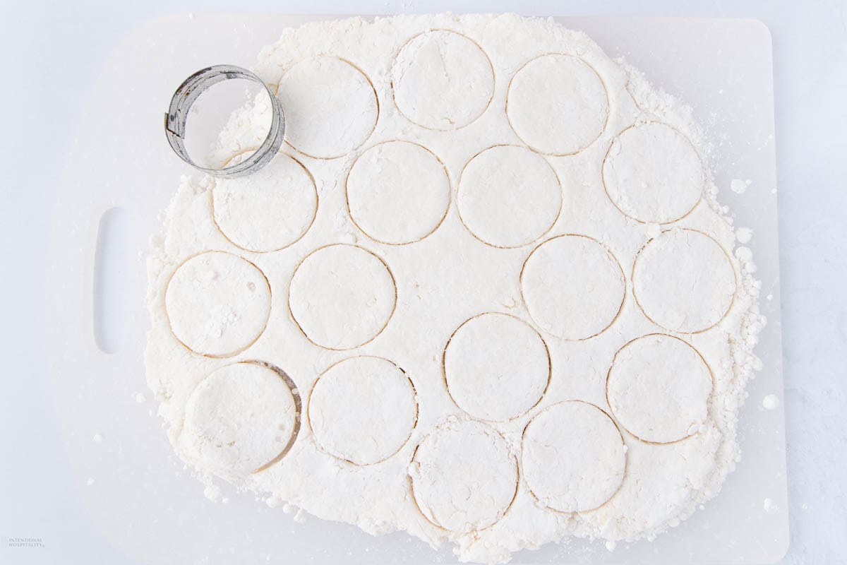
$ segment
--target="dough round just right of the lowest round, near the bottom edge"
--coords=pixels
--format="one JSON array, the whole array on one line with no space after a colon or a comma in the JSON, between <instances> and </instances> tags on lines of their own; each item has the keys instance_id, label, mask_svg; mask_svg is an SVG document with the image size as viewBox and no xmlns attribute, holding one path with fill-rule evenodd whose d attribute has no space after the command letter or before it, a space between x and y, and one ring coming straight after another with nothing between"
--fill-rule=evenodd
<instances>
[{"instance_id":1,"label":"dough round just right of the lowest round, near the bottom edge","mask_svg":"<svg viewBox=\"0 0 847 565\"><path fill-rule=\"evenodd\" d=\"M553 510L594 510L623 482L623 438L612 418L589 402L545 408L527 424L522 444L523 478Z\"/></svg>"}]
</instances>

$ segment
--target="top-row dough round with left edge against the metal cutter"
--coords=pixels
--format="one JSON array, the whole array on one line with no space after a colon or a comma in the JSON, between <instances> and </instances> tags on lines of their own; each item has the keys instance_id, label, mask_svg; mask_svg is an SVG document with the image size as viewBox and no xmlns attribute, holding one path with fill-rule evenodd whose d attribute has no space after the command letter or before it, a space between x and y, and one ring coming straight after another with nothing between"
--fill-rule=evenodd
<instances>
[{"instance_id":1,"label":"top-row dough round with left edge against the metal cutter","mask_svg":"<svg viewBox=\"0 0 847 565\"><path fill-rule=\"evenodd\" d=\"M374 131L379 104L361 70L336 57L294 65L277 91L285 112L285 139L310 157L341 157Z\"/></svg>"}]
</instances>

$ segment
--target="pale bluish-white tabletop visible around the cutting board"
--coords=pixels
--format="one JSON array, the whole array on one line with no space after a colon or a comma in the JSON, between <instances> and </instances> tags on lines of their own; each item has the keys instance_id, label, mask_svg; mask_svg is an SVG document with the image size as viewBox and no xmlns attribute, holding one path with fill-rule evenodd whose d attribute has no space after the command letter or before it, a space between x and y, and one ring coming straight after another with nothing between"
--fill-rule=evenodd
<instances>
[{"instance_id":1,"label":"pale bluish-white tabletop visible around the cutting board","mask_svg":"<svg viewBox=\"0 0 847 565\"><path fill-rule=\"evenodd\" d=\"M68 563L128 562L80 516L44 341L47 239L64 154L113 47L160 14L503 12L745 17L774 49L791 547L785 563L847 562L847 2L18 2L6 6L0 136L0 538L41 537ZM115 136L121 135L119 123ZM108 143L108 140L103 140ZM767 360L766 360L767 362ZM750 399L758 402L758 399ZM155 543L155 540L151 540ZM71 551L71 548L73 550ZM31 556L31 557L28 557ZM12 557L0 551L0 563ZM36 559L19 551L14 562Z\"/></svg>"}]
</instances>

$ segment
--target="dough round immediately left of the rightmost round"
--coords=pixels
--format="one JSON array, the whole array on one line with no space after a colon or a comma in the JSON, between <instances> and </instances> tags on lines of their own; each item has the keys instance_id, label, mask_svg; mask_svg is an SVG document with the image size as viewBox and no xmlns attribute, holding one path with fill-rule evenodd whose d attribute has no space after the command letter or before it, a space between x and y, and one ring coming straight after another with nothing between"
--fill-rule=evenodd
<instances>
[{"instance_id":1,"label":"dough round immediately left of the rightmost round","mask_svg":"<svg viewBox=\"0 0 847 565\"><path fill-rule=\"evenodd\" d=\"M543 330L566 340L605 331L623 307L623 270L587 235L558 235L535 247L520 275L521 296Z\"/></svg>"}]
</instances>

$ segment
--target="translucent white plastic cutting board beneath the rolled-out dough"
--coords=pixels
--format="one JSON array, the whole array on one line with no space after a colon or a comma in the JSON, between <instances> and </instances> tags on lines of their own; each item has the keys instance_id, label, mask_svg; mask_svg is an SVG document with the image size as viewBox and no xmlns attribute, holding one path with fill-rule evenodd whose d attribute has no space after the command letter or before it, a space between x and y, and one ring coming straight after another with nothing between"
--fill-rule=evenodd
<instances>
[{"instance_id":1,"label":"translucent white plastic cutting board beneath the rolled-out dough","mask_svg":"<svg viewBox=\"0 0 847 565\"><path fill-rule=\"evenodd\" d=\"M146 273L140 252L158 230L157 214L191 174L170 151L163 112L187 75L208 64L249 67L285 26L328 16L195 14L157 19L128 36L97 81L58 195L47 296L47 353L70 468L102 535L128 556L149 563L434 563L453 562L405 534L373 538L340 523L296 523L280 508L225 492L227 504L202 486L173 455L146 392L141 352L147 331ZM682 97L707 125L717 150L720 198L736 224L754 230L750 246L768 319L758 353L765 369L750 384L743 408L744 459L705 510L653 543L573 540L522 551L516 563L770 563L788 546L784 417L761 399L782 397L773 139L771 39L753 20L556 18L593 36L613 57L625 56L650 80ZM743 195L734 178L751 180ZM123 274L128 322L119 351L94 339L94 258L98 225L123 208L128 246ZM120 276L116 280L121 280ZM767 298L765 298L767 296ZM110 314L108 314L110 315ZM119 319L119 316L116 318ZM149 398L149 394L147 397ZM102 435L102 442L92 440ZM86 486L86 480L95 484ZM765 499L772 509L764 507Z\"/></svg>"}]
</instances>

